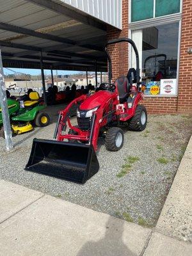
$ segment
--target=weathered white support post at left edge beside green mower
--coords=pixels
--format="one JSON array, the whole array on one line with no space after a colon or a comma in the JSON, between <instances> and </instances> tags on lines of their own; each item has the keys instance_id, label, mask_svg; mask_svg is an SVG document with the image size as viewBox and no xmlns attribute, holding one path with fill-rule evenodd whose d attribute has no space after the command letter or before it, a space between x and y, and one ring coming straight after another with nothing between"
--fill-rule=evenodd
<instances>
[{"instance_id":1,"label":"weathered white support post at left edge beside green mower","mask_svg":"<svg viewBox=\"0 0 192 256\"><path fill-rule=\"evenodd\" d=\"M13 148L13 140L12 140L12 129L10 125L10 116L8 113L8 104L6 99L6 87L4 84L1 49L0 49L0 104L1 104L1 113L3 118L6 150L10 151Z\"/></svg>"}]
</instances>

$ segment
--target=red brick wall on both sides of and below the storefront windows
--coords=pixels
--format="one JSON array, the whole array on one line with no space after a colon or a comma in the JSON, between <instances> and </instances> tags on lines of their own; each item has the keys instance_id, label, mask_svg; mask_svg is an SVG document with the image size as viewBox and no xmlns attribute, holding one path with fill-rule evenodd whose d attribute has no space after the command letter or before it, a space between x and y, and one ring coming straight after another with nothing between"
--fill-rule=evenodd
<instances>
[{"instance_id":1,"label":"red brick wall on both sides of and below the storefront windows","mask_svg":"<svg viewBox=\"0 0 192 256\"><path fill-rule=\"evenodd\" d=\"M122 1L122 31L108 28L108 40L128 37L128 0ZM180 44L179 94L177 97L145 97L142 104L148 113L189 113L192 112L192 0L183 0L182 31ZM128 70L128 44L110 45L113 81L126 75Z\"/></svg>"}]
</instances>

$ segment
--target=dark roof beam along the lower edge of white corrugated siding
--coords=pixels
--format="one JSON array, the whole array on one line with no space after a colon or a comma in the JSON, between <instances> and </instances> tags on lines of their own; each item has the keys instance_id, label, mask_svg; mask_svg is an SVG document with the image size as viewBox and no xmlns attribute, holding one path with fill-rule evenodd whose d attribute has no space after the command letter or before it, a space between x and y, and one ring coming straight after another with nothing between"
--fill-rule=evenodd
<instances>
[{"instance_id":1,"label":"dark roof beam along the lower edge of white corrugated siding","mask_svg":"<svg viewBox=\"0 0 192 256\"><path fill-rule=\"evenodd\" d=\"M63 14L67 17L70 17L88 26L92 26L92 27L101 29L103 31L106 31L106 24L103 24L102 22L99 22L88 15L83 15L79 12L75 12L74 10L70 10L69 8L67 8L68 4L66 3L63 3L66 6L64 7L61 4L54 3L49 0L48 1L47 0L26 0L26 1L42 6L56 13Z\"/></svg>"}]
</instances>

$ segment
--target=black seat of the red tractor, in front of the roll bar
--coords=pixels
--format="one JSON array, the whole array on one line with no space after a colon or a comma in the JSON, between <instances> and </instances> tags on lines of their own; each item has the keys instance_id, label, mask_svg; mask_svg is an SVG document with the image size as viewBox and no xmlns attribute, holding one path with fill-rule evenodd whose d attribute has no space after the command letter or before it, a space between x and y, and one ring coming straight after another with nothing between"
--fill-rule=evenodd
<instances>
[{"instance_id":1,"label":"black seat of the red tractor, in front of the roll bar","mask_svg":"<svg viewBox=\"0 0 192 256\"><path fill-rule=\"evenodd\" d=\"M129 81L126 76L120 76L115 81L115 86L118 89L120 103L124 103L129 97Z\"/></svg>"}]
</instances>

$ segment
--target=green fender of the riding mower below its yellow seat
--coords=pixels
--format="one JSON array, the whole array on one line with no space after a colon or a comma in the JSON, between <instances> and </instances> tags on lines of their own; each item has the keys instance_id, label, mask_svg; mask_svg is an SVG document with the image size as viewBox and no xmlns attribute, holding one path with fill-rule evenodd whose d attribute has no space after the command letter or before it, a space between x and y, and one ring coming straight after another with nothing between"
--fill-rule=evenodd
<instances>
[{"instance_id":1,"label":"green fender of the riding mower below its yellow seat","mask_svg":"<svg viewBox=\"0 0 192 256\"><path fill-rule=\"evenodd\" d=\"M23 121L23 122L33 121L35 119L37 113L44 108L45 108L45 106L36 106L35 108L33 108L31 110L26 110L26 112L21 115L14 116L12 118L12 120L13 121Z\"/></svg>"}]
</instances>

